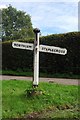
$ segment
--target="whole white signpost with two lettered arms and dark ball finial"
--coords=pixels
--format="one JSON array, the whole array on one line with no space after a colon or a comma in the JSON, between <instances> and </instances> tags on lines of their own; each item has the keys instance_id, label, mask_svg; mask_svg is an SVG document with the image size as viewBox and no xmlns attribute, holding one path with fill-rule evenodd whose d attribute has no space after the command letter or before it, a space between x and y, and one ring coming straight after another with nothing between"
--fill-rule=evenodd
<instances>
[{"instance_id":1,"label":"whole white signpost with two lettered arms and dark ball finial","mask_svg":"<svg viewBox=\"0 0 80 120\"><path fill-rule=\"evenodd\" d=\"M12 47L18 49L26 49L26 50L34 50L34 76L33 76L33 86L37 87L39 84L39 52L47 52L65 55L67 54L67 49L55 47L55 46L47 46L47 45L39 45L39 32L40 30L35 28L35 40L34 44L32 43L23 43L23 42L13 42Z\"/></svg>"}]
</instances>

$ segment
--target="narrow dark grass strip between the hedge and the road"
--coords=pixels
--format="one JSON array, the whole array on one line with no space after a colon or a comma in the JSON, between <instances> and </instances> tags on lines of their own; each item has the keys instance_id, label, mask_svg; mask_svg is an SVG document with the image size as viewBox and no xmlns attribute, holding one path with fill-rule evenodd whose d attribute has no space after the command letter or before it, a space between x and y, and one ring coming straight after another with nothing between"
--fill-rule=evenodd
<instances>
[{"instance_id":1,"label":"narrow dark grass strip between the hedge and the road","mask_svg":"<svg viewBox=\"0 0 80 120\"><path fill-rule=\"evenodd\" d=\"M0 74L3 75L16 75L16 76L33 76L33 72L31 70L22 71L22 70L2 70L0 71ZM53 74L47 74L47 73L41 73L40 77L52 77L52 78L71 78L71 79L80 79L80 75L74 75L74 74L67 74L67 73L53 73Z\"/></svg>"}]
</instances>

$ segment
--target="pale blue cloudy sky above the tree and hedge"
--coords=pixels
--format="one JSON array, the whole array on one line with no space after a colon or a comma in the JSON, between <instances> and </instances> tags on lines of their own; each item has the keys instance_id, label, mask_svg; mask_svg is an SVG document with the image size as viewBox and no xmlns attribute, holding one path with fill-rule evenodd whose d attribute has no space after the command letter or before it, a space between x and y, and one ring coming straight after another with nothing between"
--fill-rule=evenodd
<instances>
[{"instance_id":1,"label":"pale blue cloudy sky above the tree and hedge","mask_svg":"<svg viewBox=\"0 0 80 120\"><path fill-rule=\"evenodd\" d=\"M78 0L1 0L0 8L9 4L30 14L43 36L78 31Z\"/></svg>"}]
</instances>

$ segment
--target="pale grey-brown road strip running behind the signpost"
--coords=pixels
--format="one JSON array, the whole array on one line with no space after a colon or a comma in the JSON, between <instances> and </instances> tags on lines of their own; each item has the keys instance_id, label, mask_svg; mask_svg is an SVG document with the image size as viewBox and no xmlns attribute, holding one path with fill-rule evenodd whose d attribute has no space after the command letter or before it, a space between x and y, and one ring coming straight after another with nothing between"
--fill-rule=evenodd
<instances>
[{"instance_id":1,"label":"pale grey-brown road strip running behind the signpost","mask_svg":"<svg viewBox=\"0 0 80 120\"><path fill-rule=\"evenodd\" d=\"M0 75L0 80L33 80L32 77L24 76L7 76ZM64 79L64 78L39 78L40 82L58 83L64 85L80 85L80 79Z\"/></svg>"}]
</instances>

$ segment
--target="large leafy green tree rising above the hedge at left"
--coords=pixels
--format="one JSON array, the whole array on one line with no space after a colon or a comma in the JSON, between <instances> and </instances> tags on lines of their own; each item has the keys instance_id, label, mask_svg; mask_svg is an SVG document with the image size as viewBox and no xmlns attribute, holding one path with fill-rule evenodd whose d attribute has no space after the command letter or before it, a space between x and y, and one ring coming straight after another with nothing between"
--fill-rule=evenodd
<instances>
[{"instance_id":1,"label":"large leafy green tree rising above the hedge at left","mask_svg":"<svg viewBox=\"0 0 80 120\"><path fill-rule=\"evenodd\" d=\"M2 10L2 40L32 38L34 36L31 17L24 11L9 5Z\"/></svg>"}]
</instances>

